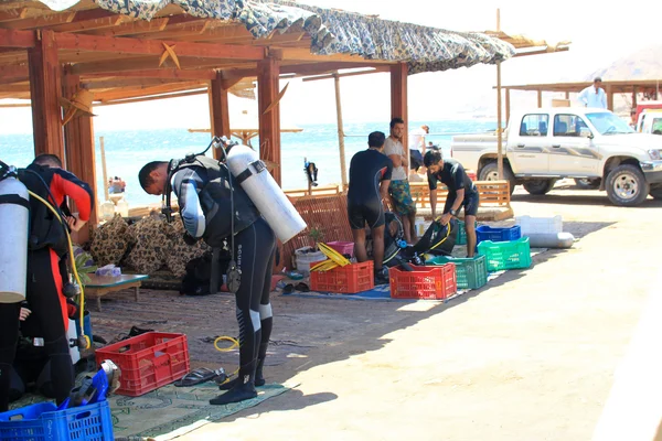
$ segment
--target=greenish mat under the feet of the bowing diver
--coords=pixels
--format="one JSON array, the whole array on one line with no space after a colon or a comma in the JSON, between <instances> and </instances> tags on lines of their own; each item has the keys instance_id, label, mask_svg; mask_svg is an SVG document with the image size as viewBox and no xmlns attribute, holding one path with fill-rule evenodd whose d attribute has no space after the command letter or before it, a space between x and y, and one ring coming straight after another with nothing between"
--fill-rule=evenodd
<instances>
[{"instance_id":1,"label":"greenish mat under the feet of the bowing diver","mask_svg":"<svg viewBox=\"0 0 662 441\"><path fill-rule=\"evenodd\" d=\"M157 440L171 440L209 422L218 421L241 410L280 395L291 387L268 384L257 388L257 397L226 406L212 406L209 400L221 394L213 381L193 387L163 386L140 397L114 395L108 398L113 416L113 430L116 440L157 437ZM40 395L28 394L12 402L17 409L46 401Z\"/></svg>"}]
</instances>

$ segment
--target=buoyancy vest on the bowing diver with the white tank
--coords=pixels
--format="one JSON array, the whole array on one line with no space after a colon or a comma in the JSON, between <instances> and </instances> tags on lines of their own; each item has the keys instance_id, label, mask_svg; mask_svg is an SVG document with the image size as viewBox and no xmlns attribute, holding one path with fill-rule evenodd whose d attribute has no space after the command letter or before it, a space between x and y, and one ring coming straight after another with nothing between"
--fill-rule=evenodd
<instances>
[{"instance_id":1,"label":"buoyancy vest on the bowing diver with the white tank","mask_svg":"<svg viewBox=\"0 0 662 441\"><path fill-rule=\"evenodd\" d=\"M222 247L225 238L233 234L232 205L234 204L234 234L248 228L259 217L259 211L242 186L232 176L225 164L205 155L196 155L193 160L182 161L174 165L169 173L169 185L172 176L183 169L200 169L206 171L207 181L197 197L205 215L205 229L202 238L211 247ZM233 193L234 192L234 193ZM234 201L231 201L231 195ZM181 208L180 208L181 215Z\"/></svg>"}]
</instances>

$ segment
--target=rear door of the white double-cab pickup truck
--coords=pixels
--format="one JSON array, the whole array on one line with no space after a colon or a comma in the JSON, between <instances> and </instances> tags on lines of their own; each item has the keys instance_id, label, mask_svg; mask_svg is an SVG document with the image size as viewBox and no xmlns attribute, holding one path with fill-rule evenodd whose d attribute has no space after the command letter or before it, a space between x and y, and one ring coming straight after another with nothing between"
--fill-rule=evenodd
<instances>
[{"instance_id":1,"label":"rear door of the white double-cab pickup truck","mask_svg":"<svg viewBox=\"0 0 662 441\"><path fill-rule=\"evenodd\" d=\"M549 173L548 157L549 115L526 114L520 121L520 130L509 133L508 157L516 175L546 175Z\"/></svg>"}]
</instances>

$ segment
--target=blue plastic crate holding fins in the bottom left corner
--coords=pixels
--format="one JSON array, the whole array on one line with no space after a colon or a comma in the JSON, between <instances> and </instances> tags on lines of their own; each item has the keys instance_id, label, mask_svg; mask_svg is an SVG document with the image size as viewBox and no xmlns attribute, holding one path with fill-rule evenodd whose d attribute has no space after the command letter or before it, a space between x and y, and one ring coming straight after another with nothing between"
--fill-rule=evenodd
<instances>
[{"instance_id":1,"label":"blue plastic crate holding fins in the bottom left corner","mask_svg":"<svg viewBox=\"0 0 662 441\"><path fill-rule=\"evenodd\" d=\"M40 402L0 413L0 440L108 441L113 440L108 401L57 410Z\"/></svg>"}]
</instances>

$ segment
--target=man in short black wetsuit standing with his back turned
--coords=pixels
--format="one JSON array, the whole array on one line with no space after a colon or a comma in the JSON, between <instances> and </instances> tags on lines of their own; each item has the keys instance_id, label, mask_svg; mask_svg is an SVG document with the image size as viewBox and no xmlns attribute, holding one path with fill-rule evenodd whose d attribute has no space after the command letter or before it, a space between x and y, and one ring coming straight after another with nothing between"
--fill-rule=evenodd
<instances>
[{"instance_id":1,"label":"man in short black wetsuit standing with his back turned","mask_svg":"<svg viewBox=\"0 0 662 441\"><path fill-rule=\"evenodd\" d=\"M386 136L373 131L367 137L367 150L354 154L350 162L350 190L348 192L348 215L354 236L354 254L360 262L367 260L365 250L365 224L370 226L375 261L375 283L388 283L384 276L384 205L388 197L388 183L393 162L382 154Z\"/></svg>"}]
</instances>

